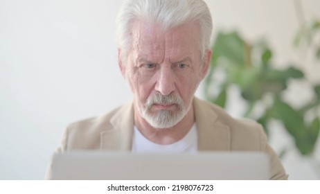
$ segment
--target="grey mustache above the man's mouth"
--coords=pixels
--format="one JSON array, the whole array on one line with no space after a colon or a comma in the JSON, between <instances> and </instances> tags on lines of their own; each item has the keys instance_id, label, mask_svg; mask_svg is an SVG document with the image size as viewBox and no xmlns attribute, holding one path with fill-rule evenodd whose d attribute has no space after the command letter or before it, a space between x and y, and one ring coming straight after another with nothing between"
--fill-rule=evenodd
<instances>
[{"instance_id":1,"label":"grey mustache above the man's mouth","mask_svg":"<svg viewBox=\"0 0 320 194\"><path fill-rule=\"evenodd\" d=\"M179 95L169 94L164 96L160 93L152 94L145 103L147 108L150 108L153 104L177 104L179 107L183 105L183 100Z\"/></svg>"}]
</instances>

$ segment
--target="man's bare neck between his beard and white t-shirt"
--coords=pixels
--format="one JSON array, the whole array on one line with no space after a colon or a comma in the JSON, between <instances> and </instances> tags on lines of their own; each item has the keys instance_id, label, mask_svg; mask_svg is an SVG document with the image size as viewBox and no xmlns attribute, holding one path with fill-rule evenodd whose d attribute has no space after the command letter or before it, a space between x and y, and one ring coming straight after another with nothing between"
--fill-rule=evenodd
<instances>
[{"instance_id":1,"label":"man's bare neck between his beard and white t-shirt","mask_svg":"<svg viewBox=\"0 0 320 194\"><path fill-rule=\"evenodd\" d=\"M191 127L195 123L195 114L193 105L191 105L188 113L177 125L166 129L154 129L144 118L139 114L139 110L134 107L134 125L138 130L150 141L162 145L168 145L175 143L190 131Z\"/></svg>"}]
</instances>

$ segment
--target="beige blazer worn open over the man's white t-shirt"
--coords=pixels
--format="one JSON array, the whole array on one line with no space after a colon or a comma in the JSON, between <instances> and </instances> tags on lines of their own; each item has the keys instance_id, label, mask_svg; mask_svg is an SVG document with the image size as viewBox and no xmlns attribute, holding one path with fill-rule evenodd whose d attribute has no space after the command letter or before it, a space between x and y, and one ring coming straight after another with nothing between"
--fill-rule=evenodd
<instances>
[{"instance_id":1,"label":"beige blazer worn open over the man's white t-shirt","mask_svg":"<svg viewBox=\"0 0 320 194\"><path fill-rule=\"evenodd\" d=\"M270 179L287 179L276 153L267 143L263 127L250 120L238 120L223 109L193 99L200 151L260 151L271 161ZM130 151L134 128L133 102L103 116L72 123L66 128L57 152L67 150ZM48 174L50 177L50 169Z\"/></svg>"}]
</instances>

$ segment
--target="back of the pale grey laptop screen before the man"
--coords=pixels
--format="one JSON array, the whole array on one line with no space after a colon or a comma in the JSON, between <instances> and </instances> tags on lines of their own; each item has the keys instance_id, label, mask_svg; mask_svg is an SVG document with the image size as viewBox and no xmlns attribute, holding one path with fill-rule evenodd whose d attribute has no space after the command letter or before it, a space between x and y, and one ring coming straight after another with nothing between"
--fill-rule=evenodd
<instances>
[{"instance_id":1,"label":"back of the pale grey laptop screen before the man","mask_svg":"<svg viewBox=\"0 0 320 194\"><path fill-rule=\"evenodd\" d=\"M65 152L53 155L51 167L51 178L64 180L269 179L269 158L262 152Z\"/></svg>"}]
</instances>

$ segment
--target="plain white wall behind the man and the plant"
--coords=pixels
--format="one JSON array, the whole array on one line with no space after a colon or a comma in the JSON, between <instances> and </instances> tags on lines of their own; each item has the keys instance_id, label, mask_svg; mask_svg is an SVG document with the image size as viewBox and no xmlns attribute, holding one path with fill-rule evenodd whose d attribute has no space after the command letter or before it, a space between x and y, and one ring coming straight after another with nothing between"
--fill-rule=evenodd
<instances>
[{"instance_id":1,"label":"plain white wall behind the man and the plant","mask_svg":"<svg viewBox=\"0 0 320 194\"><path fill-rule=\"evenodd\" d=\"M0 0L0 179L42 179L68 123L130 100L114 40L121 2ZM301 60L291 46L298 27L293 0L206 2L215 29L238 28L248 39L266 37L279 64ZM303 4L308 17L320 17L320 1ZM314 69L308 70L311 64L303 68L319 81ZM284 132L275 133L291 142ZM283 139L272 138L272 145ZM293 158L294 165L303 162ZM296 179L316 178L312 171L285 165Z\"/></svg>"}]
</instances>

